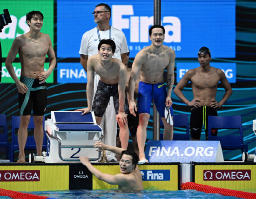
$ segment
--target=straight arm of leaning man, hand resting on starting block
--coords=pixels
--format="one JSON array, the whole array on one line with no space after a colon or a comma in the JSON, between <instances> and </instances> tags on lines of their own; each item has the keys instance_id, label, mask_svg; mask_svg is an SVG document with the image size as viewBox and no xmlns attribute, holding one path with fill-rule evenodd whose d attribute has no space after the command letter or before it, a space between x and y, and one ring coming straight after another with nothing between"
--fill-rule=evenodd
<instances>
[{"instance_id":1,"label":"straight arm of leaning man, hand resting on starting block","mask_svg":"<svg viewBox=\"0 0 256 199\"><path fill-rule=\"evenodd\" d=\"M87 114L92 109L93 96L94 96L94 66L93 60L88 59L88 71L87 71L87 103L88 107L84 109L76 109L75 111L83 111L82 115Z\"/></svg>"}]
</instances>

